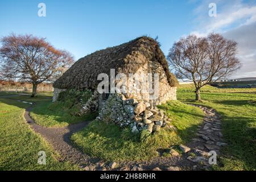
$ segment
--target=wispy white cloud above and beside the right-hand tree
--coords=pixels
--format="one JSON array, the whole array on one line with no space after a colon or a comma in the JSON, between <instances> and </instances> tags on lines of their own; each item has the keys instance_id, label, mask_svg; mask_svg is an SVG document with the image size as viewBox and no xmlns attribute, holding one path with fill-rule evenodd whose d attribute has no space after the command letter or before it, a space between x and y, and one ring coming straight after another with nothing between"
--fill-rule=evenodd
<instances>
[{"instance_id":1,"label":"wispy white cloud above and beside the right-hand tree","mask_svg":"<svg viewBox=\"0 0 256 182\"><path fill-rule=\"evenodd\" d=\"M256 76L256 3L243 1L197 1L195 27L191 34L206 36L218 32L238 42L242 68L233 77ZM208 16L208 5L217 5L217 17Z\"/></svg>"}]
</instances>

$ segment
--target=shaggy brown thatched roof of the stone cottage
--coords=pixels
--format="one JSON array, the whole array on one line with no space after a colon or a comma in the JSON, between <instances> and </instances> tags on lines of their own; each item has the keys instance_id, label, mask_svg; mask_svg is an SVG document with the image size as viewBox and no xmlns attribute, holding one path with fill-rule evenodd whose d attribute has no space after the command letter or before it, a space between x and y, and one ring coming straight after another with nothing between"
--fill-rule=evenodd
<instances>
[{"instance_id":1,"label":"shaggy brown thatched roof of the stone cottage","mask_svg":"<svg viewBox=\"0 0 256 182\"><path fill-rule=\"evenodd\" d=\"M152 38L143 36L82 57L54 82L53 87L96 89L100 82L97 81L98 74L110 75L110 69L115 69L116 74L135 73L147 61L158 61L166 72L169 84L177 85L176 77L170 73L166 57L158 43Z\"/></svg>"}]
</instances>

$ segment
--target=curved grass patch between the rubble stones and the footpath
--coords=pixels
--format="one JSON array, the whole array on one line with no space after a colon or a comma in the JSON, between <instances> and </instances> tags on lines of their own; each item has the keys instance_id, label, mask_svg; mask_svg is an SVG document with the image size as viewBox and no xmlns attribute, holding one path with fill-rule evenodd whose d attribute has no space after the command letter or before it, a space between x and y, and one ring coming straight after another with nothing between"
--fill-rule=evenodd
<instances>
[{"instance_id":1,"label":"curved grass patch between the rubble stones and the footpath","mask_svg":"<svg viewBox=\"0 0 256 182\"><path fill-rule=\"evenodd\" d=\"M158 156L157 150L188 142L203 121L203 111L197 107L170 101L160 106L174 119L177 133L162 129L159 133L149 134L143 131L134 135L129 129L120 129L116 125L93 121L84 130L72 135L72 140L86 154L106 161L141 161Z\"/></svg>"}]
</instances>

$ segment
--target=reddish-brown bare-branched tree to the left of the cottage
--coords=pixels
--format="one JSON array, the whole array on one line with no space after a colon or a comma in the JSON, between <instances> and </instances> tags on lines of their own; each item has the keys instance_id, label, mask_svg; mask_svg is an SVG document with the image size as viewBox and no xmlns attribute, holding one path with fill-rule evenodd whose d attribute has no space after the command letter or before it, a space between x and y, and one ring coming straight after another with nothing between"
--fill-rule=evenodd
<instances>
[{"instance_id":1,"label":"reddish-brown bare-branched tree to the left of the cottage","mask_svg":"<svg viewBox=\"0 0 256 182\"><path fill-rule=\"evenodd\" d=\"M38 84L53 81L73 63L69 52L54 48L45 38L11 34L0 42L1 77L31 82L31 97L36 97Z\"/></svg>"}]
</instances>

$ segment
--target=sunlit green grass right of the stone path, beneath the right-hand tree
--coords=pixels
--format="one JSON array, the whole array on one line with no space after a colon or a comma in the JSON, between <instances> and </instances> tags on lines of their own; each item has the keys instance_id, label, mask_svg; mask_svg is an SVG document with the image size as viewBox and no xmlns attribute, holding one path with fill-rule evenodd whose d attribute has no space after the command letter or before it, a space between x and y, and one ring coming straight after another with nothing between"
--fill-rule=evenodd
<instances>
[{"instance_id":1,"label":"sunlit green grass right of the stone path, beneath the right-hand tree","mask_svg":"<svg viewBox=\"0 0 256 182\"><path fill-rule=\"evenodd\" d=\"M206 86L201 93L203 102L222 116L222 133L228 143L216 170L256 170L256 89L216 89ZM193 85L182 85L177 98L196 103Z\"/></svg>"}]
</instances>

